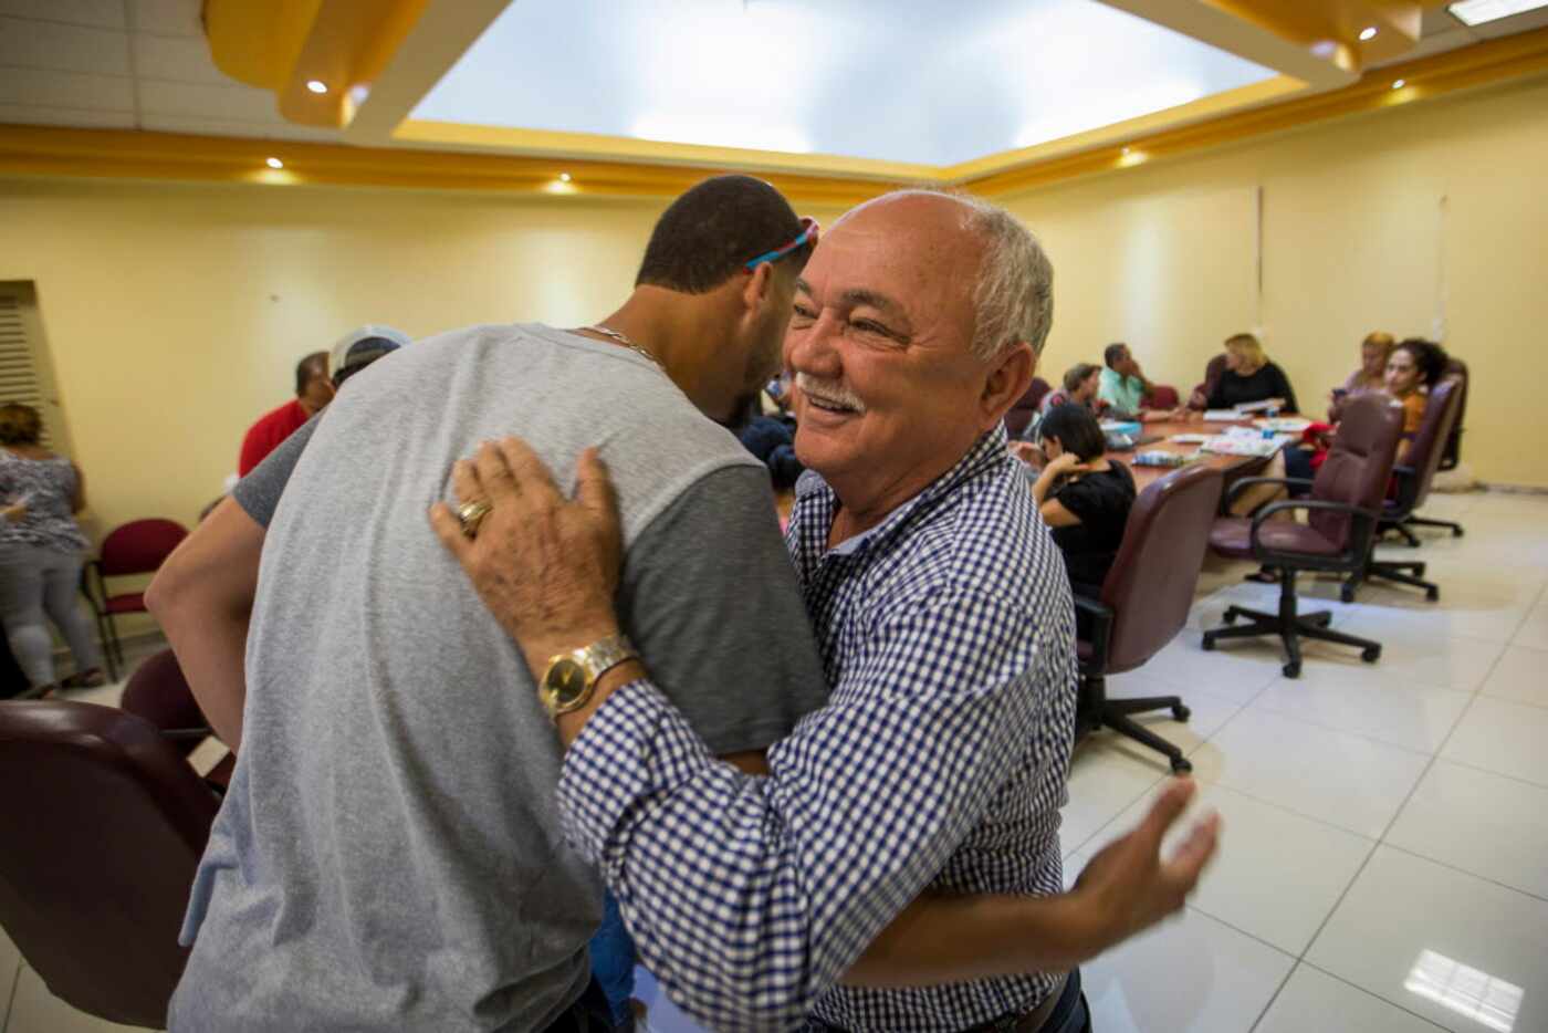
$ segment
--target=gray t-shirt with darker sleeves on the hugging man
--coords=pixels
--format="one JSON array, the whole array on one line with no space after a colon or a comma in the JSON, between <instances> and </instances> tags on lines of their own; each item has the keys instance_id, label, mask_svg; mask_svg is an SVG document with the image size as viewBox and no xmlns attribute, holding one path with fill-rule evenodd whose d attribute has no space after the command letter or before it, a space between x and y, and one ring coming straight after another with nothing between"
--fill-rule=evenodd
<instances>
[{"instance_id":1,"label":"gray t-shirt with darker sleeves on the hugging man","mask_svg":"<svg viewBox=\"0 0 1548 1033\"><path fill-rule=\"evenodd\" d=\"M170 1025L542 1030L585 987L601 886L533 675L426 513L485 438L522 435L565 491L599 444L624 629L732 753L827 694L768 475L644 358L539 325L387 356L302 434L237 491L272 522Z\"/></svg>"}]
</instances>

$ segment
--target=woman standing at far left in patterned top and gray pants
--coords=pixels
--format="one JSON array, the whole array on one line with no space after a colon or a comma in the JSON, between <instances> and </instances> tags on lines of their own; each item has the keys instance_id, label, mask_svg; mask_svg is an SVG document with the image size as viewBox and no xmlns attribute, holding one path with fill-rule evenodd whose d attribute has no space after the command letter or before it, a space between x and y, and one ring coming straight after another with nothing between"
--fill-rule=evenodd
<instances>
[{"instance_id":1,"label":"woman standing at far left in patterned top and gray pants","mask_svg":"<svg viewBox=\"0 0 1548 1033\"><path fill-rule=\"evenodd\" d=\"M45 613L76 658L63 686L105 681L76 599L87 539L74 514L87 505L85 480L74 463L39 444L42 431L37 409L0 406L0 623L34 697L60 688Z\"/></svg>"}]
</instances>

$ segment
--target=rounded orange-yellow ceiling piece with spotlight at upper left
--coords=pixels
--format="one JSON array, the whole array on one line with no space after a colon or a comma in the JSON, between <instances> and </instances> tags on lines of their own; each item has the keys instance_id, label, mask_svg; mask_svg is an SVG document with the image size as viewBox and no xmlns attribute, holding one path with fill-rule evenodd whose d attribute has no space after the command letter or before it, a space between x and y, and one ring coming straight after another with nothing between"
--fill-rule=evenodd
<instances>
[{"instance_id":1,"label":"rounded orange-yellow ceiling piece with spotlight at upper left","mask_svg":"<svg viewBox=\"0 0 1548 1033\"><path fill-rule=\"evenodd\" d=\"M291 122L339 129L429 0L204 0L211 57L228 76L271 90ZM320 82L325 93L308 84Z\"/></svg>"}]
</instances>

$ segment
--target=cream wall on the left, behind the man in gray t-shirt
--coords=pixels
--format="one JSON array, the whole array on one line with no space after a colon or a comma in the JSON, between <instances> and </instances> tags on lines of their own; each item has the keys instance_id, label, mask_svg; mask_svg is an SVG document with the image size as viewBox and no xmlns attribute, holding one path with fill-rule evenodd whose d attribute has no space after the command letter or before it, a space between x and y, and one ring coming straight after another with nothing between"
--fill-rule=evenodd
<instances>
[{"instance_id":1,"label":"cream wall on the left, behind the man in gray t-shirt","mask_svg":"<svg viewBox=\"0 0 1548 1033\"><path fill-rule=\"evenodd\" d=\"M663 204L0 180L0 280L37 285L98 528L192 523L302 355L362 322L599 319Z\"/></svg>"}]
</instances>

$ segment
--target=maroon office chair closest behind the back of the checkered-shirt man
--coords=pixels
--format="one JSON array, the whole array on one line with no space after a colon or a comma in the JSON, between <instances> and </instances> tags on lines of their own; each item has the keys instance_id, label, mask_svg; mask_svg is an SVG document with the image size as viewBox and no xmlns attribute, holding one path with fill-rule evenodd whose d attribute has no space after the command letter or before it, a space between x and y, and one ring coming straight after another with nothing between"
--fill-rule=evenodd
<instances>
[{"instance_id":1,"label":"maroon office chair closest behind the back of the checkered-shirt man","mask_svg":"<svg viewBox=\"0 0 1548 1033\"><path fill-rule=\"evenodd\" d=\"M1209 466L1183 468L1147 486L1128 511L1122 545L1102 582L1102 598L1076 596L1074 601L1076 610L1091 618L1090 640L1076 646L1081 661L1077 734L1111 728L1166 754L1178 773L1192 771L1194 765L1133 716L1170 709L1181 722L1189 719L1187 706L1176 695L1110 700L1107 675L1144 664L1187 624L1218 502L1220 471Z\"/></svg>"}]
</instances>

